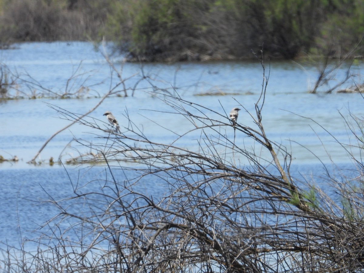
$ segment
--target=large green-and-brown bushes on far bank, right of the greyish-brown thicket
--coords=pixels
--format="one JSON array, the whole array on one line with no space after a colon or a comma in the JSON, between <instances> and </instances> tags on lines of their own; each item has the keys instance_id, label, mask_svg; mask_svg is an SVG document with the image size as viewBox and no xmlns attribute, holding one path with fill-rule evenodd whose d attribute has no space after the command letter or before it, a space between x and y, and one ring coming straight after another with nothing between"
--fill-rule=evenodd
<instances>
[{"instance_id":1,"label":"large green-and-brown bushes on far bank, right of the greyish-brown thicket","mask_svg":"<svg viewBox=\"0 0 364 273\"><path fill-rule=\"evenodd\" d=\"M329 47L333 55L341 45L345 55L359 42L363 20L356 15L360 1L344 2L130 0L118 2L108 33L121 33L132 57L146 60L250 58L262 43L276 58L327 54ZM341 24L333 24L338 18Z\"/></svg>"}]
</instances>

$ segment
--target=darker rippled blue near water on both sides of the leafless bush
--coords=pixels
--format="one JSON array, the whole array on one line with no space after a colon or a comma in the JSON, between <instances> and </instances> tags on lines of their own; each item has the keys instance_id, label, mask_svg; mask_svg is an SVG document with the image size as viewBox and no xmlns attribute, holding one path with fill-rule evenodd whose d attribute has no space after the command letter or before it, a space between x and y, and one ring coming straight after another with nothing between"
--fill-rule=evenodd
<instances>
[{"instance_id":1,"label":"darker rippled blue near water on both sides of the leafless bush","mask_svg":"<svg viewBox=\"0 0 364 273\"><path fill-rule=\"evenodd\" d=\"M335 183L335 178L341 182L340 177L343 174L348 177L358 175L359 170L350 170L351 167L349 164L336 167L293 164L291 174L297 178L296 185L301 186L302 189L306 190L307 183L318 184L325 194L340 203L341 198L337 195L337 189L332 186L332 182L328 181L326 171L330 172L331 179L334 179ZM116 183L110 175L110 170L97 166L1 170L1 242L11 246L25 243L27 248L36 249L40 238L46 238L46 242L50 242L48 237L54 237L52 230L63 232L70 229L76 222L75 219L67 219L58 225L60 230L55 228L55 223L58 223L63 216L60 215L56 221L49 220L64 211L79 217L89 217L96 213L102 219L103 211L114 200L113 198L117 199L115 185L118 185L120 189L122 185L126 185L129 190L153 197L154 200L162 198L169 193L169 188L173 188L173 183L168 185L158 176L148 175L141 179L141 173L120 168L111 168L111 171ZM137 180L138 183L135 183ZM72 199L85 193L92 193L92 195ZM106 198L106 195L110 198ZM124 195L122 200L131 202L133 198L134 195ZM139 201L139 205L141 202L142 200ZM67 235L71 240L77 241L76 234L71 229L63 234L63 237Z\"/></svg>"}]
</instances>

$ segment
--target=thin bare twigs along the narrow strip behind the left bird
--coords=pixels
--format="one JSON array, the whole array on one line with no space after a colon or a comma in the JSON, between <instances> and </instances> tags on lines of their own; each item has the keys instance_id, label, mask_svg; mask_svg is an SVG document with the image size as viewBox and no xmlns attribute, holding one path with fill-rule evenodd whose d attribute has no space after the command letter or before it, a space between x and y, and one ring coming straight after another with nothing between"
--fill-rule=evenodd
<instances>
[{"instance_id":1,"label":"thin bare twigs along the narrow strip behind the left bird","mask_svg":"<svg viewBox=\"0 0 364 273\"><path fill-rule=\"evenodd\" d=\"M100 53L104 55L110 65L110 75L107 75L102 82L90 84L89 79L100 71L85 71L83 62L80 62L72 68L69 78L61 88L45 86L31 72L14 72L5 64L0 63L0 100L102 98L105 94L100 94L100 86L109 88L107 96L134 96L141 90L172 94L174 92L173 88L178 88L171 85L162 89L158 88L157 84L161 79L158 78L156 73L145 72L142 65L139 72L124 76L124 62L115 67L115 64L104 52L105 49L100 48ZM177 74L177 72L175 73Z\"/></svg>"}]
</instances>

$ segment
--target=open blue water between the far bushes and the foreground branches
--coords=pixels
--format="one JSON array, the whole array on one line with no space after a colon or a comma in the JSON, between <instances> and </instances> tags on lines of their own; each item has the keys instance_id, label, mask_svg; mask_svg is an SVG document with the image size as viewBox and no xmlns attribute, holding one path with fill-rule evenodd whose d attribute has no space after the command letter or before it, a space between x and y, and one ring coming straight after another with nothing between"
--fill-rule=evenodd
<instances>
[{"instance_id":1,"label":"open blue water between the far bushes and the foreground branches","mask_svg":"<svg viewBox=\"0 0 364 273\"><path fill-rule=\"evenodd\" d=\"M87 94L78 99L39 98L0 102L0 155L4 158L17 155L20 159L16 163L0 164L0 205L3 208L0 212L0 219L3 219L0 223L0 241L7 240L9 244L17 244L20 237L37 237L37 233L32 231L58 213L54 206L43 202L49 199L47 194L55 198L64 198L72 192L71 182L79 180L86 184L95 177L103 179L105 175L99 167L92 170L67 167L67 173L62 166L32 166L26 163L54 132L69 123L61 119L48 104L82 114L94 107L100 100L99 96L117 83L117 77L110 71L110 66L100 51L88 43L19 44L13 50L1 51L0 58L11 71L16 71L21 79L27 81L17 87L21 92L11 90L10 95L22 95L27 98L32 92L36 92L46 94L47 97L47 94L51 96L52 92L75 92L81 87L88 88ZM121 59L114 57L115 67L118 69L122 66ZM356 64L355 73L359 74L362 68L362 63ZM352 114L361 118L364 114L361 95L324 94L325 88L328 87L321 88L316 95L308 94L307 91L312 88L317 77L317 70L304 63L298 65L294 62L272 62L270 70L266 104L262 112L265 130L270 139L282 143L292 151L293 169L308 175L320 174L323 169L317 157L325 163L332 160L341 166L352 167L345 151L322 127L300 116L315 120L331 132L337 141L355 144L355 139L345 127L339 111L347 117L350 110ZM191 124L183 119L171 119L169 115L149 111L170 111L161 100L150 95L149 92L153 91L152 85L165 88L168 92L173 92L173 86L182 98L223 113L224 110L229 112L236 105L233 98L249 111L253 111L262 83L262 69L258 62L143 65L127 63L122 71L123 78L127 79L125 87L128 89L137 86L134 96L131 96L131 90L128 90L128 97L107 98L90 114L90 119L95 118L100 126L106 126L102 114L110 110L119 123L124 124L127 110L133 122L143 128L146 135L165 142L171 142L174 135L168 131L163 131L162 134L160 128L156 128L150 119L178 132L189 130ZM149 82L139 82L141 71L150 77ZM339 80L344 72L339 71L336 79ZM356 80L359 79L358 76ZM335 80L329 84L335 84ZM120 89L117 88L116 91ZM228 95L196 96L211 92L223 92ZM217 119L222 120L221 117ZM240 112L239 122L254 126L249 115L243 111ZM61 157L65 160L77 155L73 149L76 144L72 139L93 141L93 133L89 127L78 124L68 128L52 139L40 154L38 161L48 160L50 157ZM196 135L191 135L185 143L179 144L194 149L197 147L194 139L198 138L196 132ZM358 149L353 149L353 153L360 155ZM150 189L149 186L146 187ZM100 185L92 187L99 189ZM153 189L153 195L157 196L165 191L162 185Z\"/></svg>"}]
</instances>

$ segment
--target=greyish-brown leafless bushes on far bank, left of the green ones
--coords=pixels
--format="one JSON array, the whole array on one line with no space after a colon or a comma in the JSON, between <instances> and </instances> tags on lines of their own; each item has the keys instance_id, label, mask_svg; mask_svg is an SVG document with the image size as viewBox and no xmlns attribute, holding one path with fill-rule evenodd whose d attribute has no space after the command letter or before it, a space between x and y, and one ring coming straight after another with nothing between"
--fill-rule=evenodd
<instances>
[{"instance_id":1,"label":"greyish-brown leafless bushes on far bank, left of the green ones","mask_svg":"<svg viewBox=\"0 0 364 273\"><path fill-rule=\"evenodd\" d=\"M106 17L103 6L107 0L9 1L1 12L0 42L96 39Z\"/></svg>"}]
</instances>

